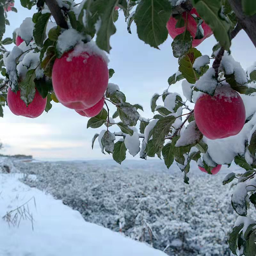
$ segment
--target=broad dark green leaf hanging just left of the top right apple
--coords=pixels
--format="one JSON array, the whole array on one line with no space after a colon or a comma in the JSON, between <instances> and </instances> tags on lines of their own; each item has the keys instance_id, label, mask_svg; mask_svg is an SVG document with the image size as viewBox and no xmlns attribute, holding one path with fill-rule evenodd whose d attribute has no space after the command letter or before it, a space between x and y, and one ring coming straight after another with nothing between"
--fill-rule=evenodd
<instances>
[{"instance_id":1,"label":"broad dark green leaf hanging just left of the top right apple","mask_svg":"<svg viewBox=\"0 0 256 256\"><path fill-rule=\"evenodd\" d=\"M158 49L168 36L166 24L172 13L168 0L141 0L135 13L139 38Z\"/></svg>"}]
</instances>

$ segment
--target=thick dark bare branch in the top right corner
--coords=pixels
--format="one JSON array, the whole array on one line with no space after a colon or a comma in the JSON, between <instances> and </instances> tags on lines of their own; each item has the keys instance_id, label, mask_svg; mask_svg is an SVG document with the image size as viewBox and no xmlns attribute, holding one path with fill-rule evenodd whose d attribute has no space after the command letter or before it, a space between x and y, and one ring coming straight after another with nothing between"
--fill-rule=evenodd
<instances>
[{"instance_id":1,"label":"thick dark bare branch in the top right corner","mask_svg":"<svg viewBox=\"0 0 256 256\"><path fill-rule=\"evenodd\" d=\"M241 0L228 0L228 2L235 12L238 22L256 47L256 15L245 15L242 9Z\"/></svg>"}]
</instances>

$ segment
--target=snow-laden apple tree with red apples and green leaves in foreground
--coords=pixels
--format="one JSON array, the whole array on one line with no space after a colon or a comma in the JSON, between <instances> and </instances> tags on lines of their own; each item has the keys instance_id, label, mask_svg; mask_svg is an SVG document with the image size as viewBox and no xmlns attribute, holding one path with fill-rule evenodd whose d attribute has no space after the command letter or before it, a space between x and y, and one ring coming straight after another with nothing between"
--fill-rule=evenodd
<instances>
[{"instance_id":1,"label":"snow-laden apple tree with red apples and green leaves in foreground","mask_svg":"<svg viewBox=\"0 0 256 256\"><path fill-rule=\"evenodd\" d=\"M126 154L176 163L189 184L191 161L210 175L231 162L244 168L230 172L223 185L235 185L231 198L239 214L230 233L235 255L256 255L256 222L246 217L256 206L256 67L247 72L234 60L232 39L244 30L256 46L254 0L20 0L37 12L3 38L13 0L0 0L0 115L8 105L15 115L35 118L52 108L51 101L90 117L88 129L103 154L121 164ZM131 104L114 83L110 37L115 22L127 33L135 22L140 40L158 49L167 36L179 70L167 77L166 90L150 101L152 116ZM214 36L212 55L196 49ZM15 43L11 52L4 45ZM210 64L211 63L211 64ZM111 80L110 80L111 79ZM110 81L109 81L110 80ZM169 88L182 80L186 101ZM110 113L109 105L116 108ZM191 107L192 106L192 107ZM76 113L77 112L77 113ZM109 129L109 127L111 129ZM103 128L102 128L103 127ZM115 130L115 132L111 132ZM110 131L111 130L111 131ZM236 181L236 182L235 182Z\"/></svg>"}]
</instances>

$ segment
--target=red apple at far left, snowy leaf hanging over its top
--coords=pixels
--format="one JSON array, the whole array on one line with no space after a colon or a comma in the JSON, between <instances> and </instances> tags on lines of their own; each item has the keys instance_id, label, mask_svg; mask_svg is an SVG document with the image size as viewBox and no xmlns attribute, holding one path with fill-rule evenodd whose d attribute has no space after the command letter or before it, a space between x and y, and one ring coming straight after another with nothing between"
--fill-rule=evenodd
<instances>
[{"instance_id":1,"label":"red apple at far left, snowy leaf hanging over its top","mask_svg":"<svg viewBox=\"0 0 256 256\"><path fill-rule=\"evenodd\" d=\"M34 100L26 106L23 100L20 99L20 91L12 92L9 88L7 92L7 103L12 113L16 116L26 116L35 118L44 112L47 98L43 99L40 93L36 90Z\"/></svg>"}]
</instances>

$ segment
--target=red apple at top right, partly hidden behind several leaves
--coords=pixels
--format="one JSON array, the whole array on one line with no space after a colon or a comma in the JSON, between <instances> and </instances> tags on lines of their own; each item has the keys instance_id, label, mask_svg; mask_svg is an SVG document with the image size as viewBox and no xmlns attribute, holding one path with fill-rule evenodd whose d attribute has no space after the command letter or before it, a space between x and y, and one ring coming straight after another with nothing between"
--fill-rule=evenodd
<instances>
[{"instance_id":1,"label":"red apple at top right, partly hidden behind several leaves","mask_svg":"<svg viewBox=\"0 0 256 256\"><path fill-rule=\"evenodd\" d=\"M197 17L199 17L198 13L196 12L196 9L193 8L190 11L190 14L196 14ZM185 21L186 24L186 17L187 17L187 30L190 32L191 36L193 36L193 38L195 38L196 36L196 21L195 19L187 12L183 12L182 13L182 17ZM170 36L172 37L172 39L174 39L176 36L180 35L181 33L183 33L185 31L185 26L182 28L175 28L177 23L177 20L175 18L173 18L171 16L170 20L167 22L167 29L168 32L170 34ZM196 47L197 45L201 44L205 38L209 37L212 35L212 30L211 28L205 24L205 22L202 23L202 28L204 29L204 37L202 39L193 39L192 42L192 47Z\"/></svg>"}]
</instances>

